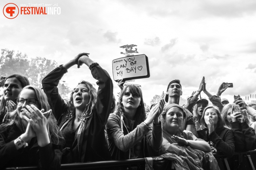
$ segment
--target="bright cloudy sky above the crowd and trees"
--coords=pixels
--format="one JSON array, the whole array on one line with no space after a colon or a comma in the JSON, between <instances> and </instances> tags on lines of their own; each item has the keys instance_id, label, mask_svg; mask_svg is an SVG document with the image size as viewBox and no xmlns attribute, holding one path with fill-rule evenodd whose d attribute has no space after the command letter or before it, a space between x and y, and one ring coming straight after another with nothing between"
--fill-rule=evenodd
<instances>
[{"instance_id":1,"label":"bright cloudy sky above the crowd and trees","mask_svg":"<svg viewBox=\"0 0 256 170\"><path fill-rule=\"evenodd\" d=\"M20 4L58 3L60 15L0 14L0 48L28 57L46 57L64 64L80 52L90 53L112 75L112 60L124 55L119 48L136 44L149 58L150 78L142 85L149 105L155 94L180 79L183 98L206 88L216 94L222 82L234 83L222 98L256 94L256 1L254 0L13 0ZM0 1L0 7L10 3ZM2 10L1 10L2 11ZM95 83L87 66L75 66L63 77L74 88L80 80ZM114 94L119 88L114 83ZM202 94L202 97L206 95Z\"/></svg>"}]
</instances>

